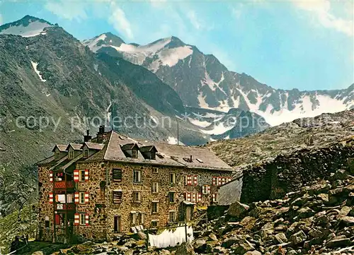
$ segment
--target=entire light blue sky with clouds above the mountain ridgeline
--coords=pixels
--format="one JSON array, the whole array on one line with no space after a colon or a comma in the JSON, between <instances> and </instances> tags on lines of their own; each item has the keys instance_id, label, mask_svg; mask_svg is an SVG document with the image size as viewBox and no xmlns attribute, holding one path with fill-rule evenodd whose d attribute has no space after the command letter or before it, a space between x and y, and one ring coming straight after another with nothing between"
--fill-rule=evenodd
<instances>
[{"instance_id":1,"label":"entire light blue sky with clouds above the mountain ridgeline","mask_svg":"<svg viewBox=\"0 0 354 255\"><path fill-rule=\"evenodd\" d=\"M347 88L354 82L353 1L6 1L0 24L26 14L79 40L113 32L147 44L175 35L229 70L273 88Z\"/></svg>"}]
</instances>

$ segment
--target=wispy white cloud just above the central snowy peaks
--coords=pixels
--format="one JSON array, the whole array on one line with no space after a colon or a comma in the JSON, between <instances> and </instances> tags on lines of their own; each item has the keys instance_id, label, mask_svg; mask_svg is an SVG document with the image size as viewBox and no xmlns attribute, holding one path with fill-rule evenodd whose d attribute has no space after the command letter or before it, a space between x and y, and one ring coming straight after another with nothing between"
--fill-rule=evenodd
<instances>
[{"instance_id":1,"label":"wispy white cloud just above the central snowy peaks","mask_svg":"<svg viewBox=\"0 0 354 255\"><path fill-rule=\"evenodd\" d=\"M118 32L124 33L129 39L133 39L132 25L125 16L125 12L118 6L115 6L114 2L111 3L112 13L108 22L113 25L113 28Z\"/></svg>"}]
</instances>

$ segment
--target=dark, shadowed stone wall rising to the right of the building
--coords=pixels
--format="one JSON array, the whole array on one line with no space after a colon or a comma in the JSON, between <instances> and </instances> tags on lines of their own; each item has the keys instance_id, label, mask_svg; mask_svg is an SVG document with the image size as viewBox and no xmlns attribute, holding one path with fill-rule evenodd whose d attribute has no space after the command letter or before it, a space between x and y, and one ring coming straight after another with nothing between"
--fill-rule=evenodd
<instances>
[{"instance_id":1,"label":"dark, shadowed stone wall rising to the right of the building","mask_svg":"<svg viewBox=\"0 0 354 255\"><path fill-rule=\"evenodd\" d=\"M251 165L243 170L241 203L282 198L300 184L326 178L338 169L347 169L354 158L354 141L336 143L327 148L299 150L278 155L271 162Z\"/></svg>"}]
</instances>

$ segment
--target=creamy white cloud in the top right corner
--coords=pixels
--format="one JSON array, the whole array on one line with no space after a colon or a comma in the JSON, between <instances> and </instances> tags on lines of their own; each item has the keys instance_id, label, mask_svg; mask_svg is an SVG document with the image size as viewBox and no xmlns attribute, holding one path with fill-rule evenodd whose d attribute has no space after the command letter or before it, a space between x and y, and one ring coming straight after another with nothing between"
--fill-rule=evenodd
<instances>
[{"instance_id":1,"label":"creamy white cloud in the top right corner","mask_svg":"<svg viewBox=\"0 0 354 255\"><path fill-rule=\"evenodd\" d=\"M331 2L329 0L293 0L293 3L300 10L312 13L316 22L320 23L325 28L332 28L348 36L353 36L353 19L346 20L333 15L333 13L331 13Z\"/></svg>"}]
</instances>

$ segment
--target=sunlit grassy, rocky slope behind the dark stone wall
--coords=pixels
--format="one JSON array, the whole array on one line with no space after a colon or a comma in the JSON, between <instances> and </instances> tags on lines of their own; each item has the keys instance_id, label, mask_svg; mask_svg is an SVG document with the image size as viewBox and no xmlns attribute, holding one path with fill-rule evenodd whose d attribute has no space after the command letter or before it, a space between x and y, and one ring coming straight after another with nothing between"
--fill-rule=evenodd
<instances>
[{"instance_id":1,"label":"sunlit grassy, rocky slope behind the dark stone wall","mask_svg":"<svg viewBox=\"0 0 354 255\"><path fill-rule=\"evenodd\" d=\"M241 169L253 163L269 162L280 154L326 147L354 136L353 121L354 109L321 114L314 118L295 119L258 134L211 142L207 147L232 167Z\"/></svg>"}]
</instances>

